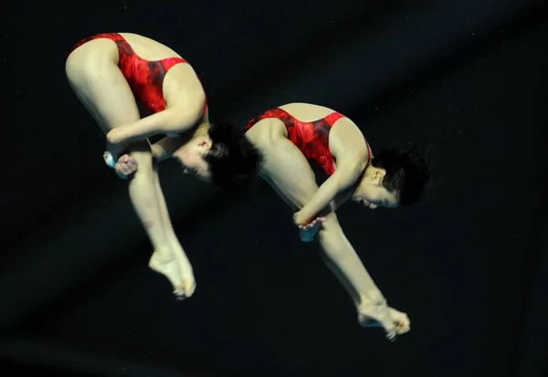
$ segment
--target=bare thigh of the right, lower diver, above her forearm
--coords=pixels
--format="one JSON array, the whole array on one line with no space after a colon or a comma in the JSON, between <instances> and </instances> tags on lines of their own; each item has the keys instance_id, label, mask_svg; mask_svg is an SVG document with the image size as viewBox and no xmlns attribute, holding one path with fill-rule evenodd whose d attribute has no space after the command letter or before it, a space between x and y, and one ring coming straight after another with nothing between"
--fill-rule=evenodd
<instances>
[{"instance_id":1,"label":"bare thigh of the right, lower diver, above her forearm","mask_svg":"<svg viewBox=\"0 0 548 377\"><path fill-rule=\"evenodd\" d=\"M293 209L307 204L318 190L311 165L299 148L282 136L264 152L261 176Z\"/></svg>"}]
</instances>

